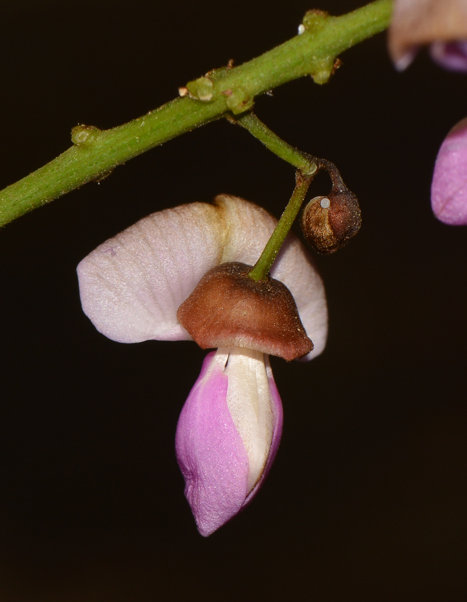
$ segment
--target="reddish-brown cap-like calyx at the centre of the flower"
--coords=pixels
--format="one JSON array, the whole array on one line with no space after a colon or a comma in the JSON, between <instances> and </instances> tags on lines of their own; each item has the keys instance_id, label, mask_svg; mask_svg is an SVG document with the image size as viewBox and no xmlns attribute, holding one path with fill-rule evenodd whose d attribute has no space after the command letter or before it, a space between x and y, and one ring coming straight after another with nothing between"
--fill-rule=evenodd
<instances>
[{"instance_id":1,"label":"reddish-brown cap-like calyx at the centre of the flower","mask_svg":"<svg viewBox=\"0 0 467 602\"><path fill-rule=\"evenodd\" d=\"M268 276L254 281L239 262L209 270L179 307L177 318L202 349L246 347L288 361L313 350L292 294Z\"/></svg>"}]
</instances>

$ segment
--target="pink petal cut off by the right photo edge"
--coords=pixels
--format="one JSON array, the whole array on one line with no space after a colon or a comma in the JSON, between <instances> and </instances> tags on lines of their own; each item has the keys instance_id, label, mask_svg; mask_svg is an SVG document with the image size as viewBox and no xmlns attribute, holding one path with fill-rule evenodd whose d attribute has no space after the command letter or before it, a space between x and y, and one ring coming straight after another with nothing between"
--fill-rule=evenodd
<instances>
[{"instance_id":1,"label":"pink petal cut off by the right photo edge","mask_svg":"<svg viewBox=\"0 0 467 602\"><path fill-rule=\"evenodd\" d=\"M441 222L467 225L467 117L451 129L439 149L433 172L432 208Z\"/></svg>"}]
</instances>

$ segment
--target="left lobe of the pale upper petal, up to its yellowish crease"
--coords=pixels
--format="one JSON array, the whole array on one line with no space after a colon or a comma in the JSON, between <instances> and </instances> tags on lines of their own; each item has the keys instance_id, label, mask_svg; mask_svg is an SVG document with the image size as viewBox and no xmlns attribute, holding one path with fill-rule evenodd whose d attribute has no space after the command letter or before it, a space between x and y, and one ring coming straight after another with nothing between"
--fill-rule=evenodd
<instances>
[{"instance_id":1,"label":"left lobe of the pale upper petal, up to its yellowish crease","mask_svg":"<svg viewBox=\"0 0 467 602\"><path fill-rule=\"evenodd\" d=\"M207 203L145 217L78 265L85 314L120 343L190 340L177 309L221 261L223 240L219 209Z\"/></svg>"}]
</instances>

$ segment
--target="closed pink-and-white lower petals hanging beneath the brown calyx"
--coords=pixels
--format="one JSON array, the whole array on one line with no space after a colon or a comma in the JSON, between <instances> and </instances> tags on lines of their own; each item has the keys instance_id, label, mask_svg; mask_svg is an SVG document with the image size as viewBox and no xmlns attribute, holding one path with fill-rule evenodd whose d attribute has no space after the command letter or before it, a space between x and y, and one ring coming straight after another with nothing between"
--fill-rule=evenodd
<instances>
[{"instance_id":1,"label":"closed pink-and-white lower petals hanging beneath the brown calyx","mask_svg":"<svg viewBox=\"0 0 467 602\"><path fill-rule=\"evenodd\" d=\"M207 536L251 501L275 458L282 404L267 356L209 353L177 425L177 460L198 530Z\"/></svg>"}]
</instances>

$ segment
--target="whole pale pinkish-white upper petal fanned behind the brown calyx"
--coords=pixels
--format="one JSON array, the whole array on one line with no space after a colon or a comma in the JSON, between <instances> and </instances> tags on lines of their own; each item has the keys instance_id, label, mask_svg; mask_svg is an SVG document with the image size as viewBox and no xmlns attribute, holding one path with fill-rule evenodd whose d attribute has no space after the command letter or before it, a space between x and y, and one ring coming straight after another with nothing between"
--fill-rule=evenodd
<instances>
[{"instance_id":1,"label":"whole pale pinkish-white upper petal fanned behind the brown calyx","mask_svg":"<svg viewBox=\"0 0 467 602\"><path fill-rule=\"evenodd\" d=\"M215 203L154 213L81 261L81 302L97 330L122 343L189 340L177 321L179 306L212 267L228 261L253 265L277 223L264 209L234 196L220 195ZM295 235L289 235L271 275L295 297L315 345L310 357L318 355L327 332L325 291Z\"/></svg>"}]
</instances>

